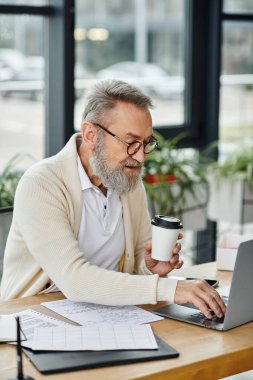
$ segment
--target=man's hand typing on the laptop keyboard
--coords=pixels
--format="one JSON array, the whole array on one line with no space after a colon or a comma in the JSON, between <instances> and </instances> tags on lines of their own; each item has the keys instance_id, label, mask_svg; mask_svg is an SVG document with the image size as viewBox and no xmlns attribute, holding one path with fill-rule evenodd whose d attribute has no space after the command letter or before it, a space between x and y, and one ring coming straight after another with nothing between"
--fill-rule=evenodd
<instances>
[{"instance_id":1,"label":"man's hand typing on the laptop keyboard","mask_svg":"<svg viewBox=\"0 0 253 380\"><path fill-rule=\"evenodd\" d=\"M219 293L205 280L179 280L174 302L179 305L193 303L209 319L212 318L211 310L218 318L226 311Z\"/></svg>"}]
</instances>

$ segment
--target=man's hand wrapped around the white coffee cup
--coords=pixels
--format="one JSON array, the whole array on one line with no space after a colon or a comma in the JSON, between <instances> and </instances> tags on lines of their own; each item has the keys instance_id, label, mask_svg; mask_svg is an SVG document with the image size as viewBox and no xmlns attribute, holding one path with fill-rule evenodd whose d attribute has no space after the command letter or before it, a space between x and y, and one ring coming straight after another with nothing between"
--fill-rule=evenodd
<instances>
[{"instance_id":1,"label":"man's hand wrapped around the white coffee cup","mask_svg":"<svg viewBox=\"0 0 253 380\"><path fill-rule=\"evenodd\" d=\"M182 239L183 234L179 233L178 239ZM183 261L180 260L179 252L181 250L181 244L177 243L172 251L172 257L169 261L158 261L152 259L152 243L149 241L145 245L145 261L146 267L154 274L159 274L159 276L166 276L173 269L179 269L183 265Z\"/></svg>"}]
</instances>

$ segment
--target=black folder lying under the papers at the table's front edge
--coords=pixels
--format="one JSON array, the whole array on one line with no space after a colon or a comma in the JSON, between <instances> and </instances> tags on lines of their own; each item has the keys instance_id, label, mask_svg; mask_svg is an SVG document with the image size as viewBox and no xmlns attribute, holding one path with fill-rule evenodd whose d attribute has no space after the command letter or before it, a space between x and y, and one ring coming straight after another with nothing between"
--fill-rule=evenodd
<instances>
[{"instance_id":1,"label":"black folder lying under the papers at the table's front edge","mask_svg":"<svg viewBox=\"0 0 253 380\"><path fill-rule=\"evenodd\" d=\"M41 351L23 348L35 367L44 374L106 367L141 361L176 358L178 351L156 337L158 349L119 351Z\"/></svg>"}]
</instances>

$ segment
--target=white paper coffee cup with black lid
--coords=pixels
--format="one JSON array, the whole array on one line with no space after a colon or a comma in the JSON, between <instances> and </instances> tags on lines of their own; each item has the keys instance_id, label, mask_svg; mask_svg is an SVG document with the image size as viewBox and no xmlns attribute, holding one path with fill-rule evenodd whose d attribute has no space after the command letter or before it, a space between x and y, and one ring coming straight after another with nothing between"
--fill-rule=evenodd
<instances>
[{"instance_id":1,"label":"white paper coffee cup with black lid","mask_svg":"<svg viewBox=\"0 0 253 380\"><path fill-rule=\"evenodd\" d=\"M159 261L168 261L178 240L178 233L183 225L173 216L156 215L152 221L151 257Z\"/></svg>"}]
</instances>

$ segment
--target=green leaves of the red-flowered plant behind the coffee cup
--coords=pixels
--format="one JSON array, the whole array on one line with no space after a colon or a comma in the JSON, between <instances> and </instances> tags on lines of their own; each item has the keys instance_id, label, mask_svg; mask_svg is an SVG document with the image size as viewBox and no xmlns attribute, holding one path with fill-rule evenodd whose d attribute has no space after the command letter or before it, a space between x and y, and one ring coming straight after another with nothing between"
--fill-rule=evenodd
<instances>
[{"instance_id":1,"label":"green leaves of the red-flowered plant behind the coffee cup","mask_svg":"<svg viewBox=\"0 0 253 380\"><path fill-rule=\"evenodd\" d=\"M144 162L144 185L156 212L181 217L186 203L187 193L195 194L196 184L207 183L206 169L199 162L199 155L187 155L177 149L177 144L186 133L181 133L171 140L166 140L157 131L155 137L160 141L158 149L147 155ZM145 180L146 174L156 174L159 183L150 184ZM173 191L164 174L172 174L176 178L179 191Z\"/></svg>"}]
</instances>

